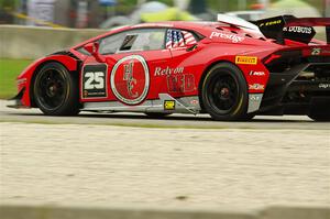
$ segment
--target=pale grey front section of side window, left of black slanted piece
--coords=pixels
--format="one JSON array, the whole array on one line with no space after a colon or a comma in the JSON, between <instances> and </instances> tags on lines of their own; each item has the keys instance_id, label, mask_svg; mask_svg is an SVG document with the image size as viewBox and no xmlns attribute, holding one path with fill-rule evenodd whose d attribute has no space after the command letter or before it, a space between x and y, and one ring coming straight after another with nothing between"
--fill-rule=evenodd
<instances>
[{"instance_id":1,"label":"pale grey front section of side window, left of black slanted piece","mask_svg":"<svg viewBox=\"0 0 330 219\"><path fill-rule=\"evenodd\" d=\"M122 44L124 33L117 33L100 41L99 53L102 55L116 53Z\"/></svg>"}]
</instances>

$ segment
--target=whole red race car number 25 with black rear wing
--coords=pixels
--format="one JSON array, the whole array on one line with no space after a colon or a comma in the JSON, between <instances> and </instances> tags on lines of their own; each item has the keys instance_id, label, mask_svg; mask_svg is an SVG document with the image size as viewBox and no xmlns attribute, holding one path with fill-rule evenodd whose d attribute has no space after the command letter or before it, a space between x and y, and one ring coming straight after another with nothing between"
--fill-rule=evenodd
<instances>
[{"instance_id":1,"label":"whole red race car number 25 with black rear wing","mask_svg":"<svg viewBox=\"0 0 330 219\"><path fill-rule=\"evenodd\" d=\"M18 77L13 107L330 120L329 18L218 20L125 26L43 57ZM327 42L314 26L326 28Z\"/></svg>"}]
</instances>

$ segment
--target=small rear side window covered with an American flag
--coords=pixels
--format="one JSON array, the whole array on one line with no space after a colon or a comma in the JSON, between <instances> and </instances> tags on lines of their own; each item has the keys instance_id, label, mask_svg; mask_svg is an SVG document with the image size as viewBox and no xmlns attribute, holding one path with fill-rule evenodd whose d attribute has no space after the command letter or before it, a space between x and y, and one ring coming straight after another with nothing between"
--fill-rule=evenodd
<instances>
[{"instance_id":1,"label":"small rear side window covered with an American flag","mask_svg":"<svg viewBox=\"0 0 330 219\"><path fill-rule=\"evenodd\" d=\"M195 44L196 37L188 31L168 29L166 33L166 48L185 47Z\"/></svg>"}]
</instances>

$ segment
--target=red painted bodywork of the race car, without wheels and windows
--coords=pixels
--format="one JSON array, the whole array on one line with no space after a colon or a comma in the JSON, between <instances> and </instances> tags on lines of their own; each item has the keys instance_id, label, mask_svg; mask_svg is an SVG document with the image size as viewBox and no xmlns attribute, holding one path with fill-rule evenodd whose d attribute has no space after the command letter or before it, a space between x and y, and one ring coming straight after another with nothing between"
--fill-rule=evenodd
<instances>
[{"instance_id":1,"label":"red painted bodywork of the race car, without wheels and windows","mask_svg":"<svg viewBox=\"0 0 330 219\"><path fill-rule=\"evenodd\" d=\"M110 55L95 56L85 55L78 52L84 45L97 42L108 35L135 30L135 29L178 29L191 31L198 34L200 41L194 45L164 48L161 51L127 52ZM120 101L127 106L136 106L145 100L158 99L158 94L168 94L174 98L199 96L202 79L212 65L219 62L229 62L237 65L248 84L249 94L263 94L270 79L267 63L280 57L278 52L301 51L302 56L310 56L312 51L321 48L322 56L330 56L330 46L327 43L311 42L309 45L296 41L286 40L284 44L278 44L273 39L265 39L255 30L249 30L234 25L227 25L220 22L198 23L198 22L164 22L146 23L134 26L127 26L110 31L103 35L86 41L69 50L72 55L55 54L41 58L31 64L18 78L19 91L23 90L21 102L25 107L35 107L31 97L31 86L33 76L37 69L47 62L58 62L63 64L72 74L79 74L80 102ZM147 74L143 62L147 65ZM124 61L124 57L133 57ZM132 61L133 59L133 61ZM113 67L120 62L113 72ZM134 88L127 91L128 84L122 79L120 73L123 67L133 62L135 72ZM82 92L81 69L86 65L105 63L107 65L106 96L99 98L86 97ZM121 70L119 70L121 69ZM120 72L120 73L119 73ZM111 74L116 74L111 78ZM114 81L116 89L113 89ZM148 80L148 81L147 81ZM145 86L147 86L145 91ZM116 95L117 92L117 95ZM119 95L118 95L119 94ZM119 98L120 96L120 98ZM143 98L143 100L139 99Z\"/></svg>"}]
</instances>

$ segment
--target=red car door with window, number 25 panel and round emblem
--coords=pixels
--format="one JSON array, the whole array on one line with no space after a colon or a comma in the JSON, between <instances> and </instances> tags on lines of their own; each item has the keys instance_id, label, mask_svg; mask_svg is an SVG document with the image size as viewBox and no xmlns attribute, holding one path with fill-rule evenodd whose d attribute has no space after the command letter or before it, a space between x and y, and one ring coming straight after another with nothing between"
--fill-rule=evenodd
<instances>
[{"instance_id":1,"label":"red car door with window, number 25 panel and round emblem","mask_svg":"<svg viewBox=\"0 0 330 219\"><path fill-rule=\"evenodd\" d=\"M82 67L84 100L118 100L135 106L145 99L157 99L166 85L156 77L156 72L166 69L172 59L165 37L165 28L153 28L133 29L99 40L99 59L90 56Z\"/></svg>"}]
</instances>

